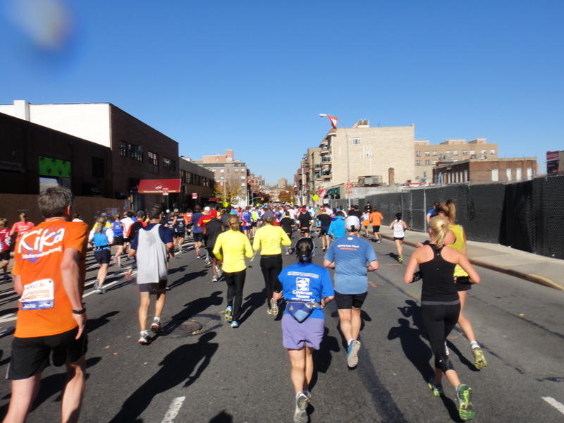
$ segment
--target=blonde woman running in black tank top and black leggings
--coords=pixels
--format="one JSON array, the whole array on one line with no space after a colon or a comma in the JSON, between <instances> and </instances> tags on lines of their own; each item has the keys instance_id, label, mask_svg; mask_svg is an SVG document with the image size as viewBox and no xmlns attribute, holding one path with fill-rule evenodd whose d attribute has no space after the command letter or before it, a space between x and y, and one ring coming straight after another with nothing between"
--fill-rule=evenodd
<instances>
[{"instance_id":1,"label":"blonde woman running in black tank top and black leggings","mask_svg":"<svg viewBox=\"0 0 564 423\"><path fill-rule=\"evenodd\" d=\"M429 380L429 388L435 396L443 396L441 379L443 374L456 389L458 414L466 421L474 418L472 388L460 383L452 362L446 355L446 337L454 329L460 314L460 298L453 273L460 264L470 275L470 283L479 283L480 278L468 259L461 252L444 245L448 235L448 220L436 216L429 221L431 243L417 248L407 263L405 283L412 283L417 278L415 270L419 265L419 274L423 280L421 292L421 314L435 356L435 376Z\"/></svg>"}]
</instances>

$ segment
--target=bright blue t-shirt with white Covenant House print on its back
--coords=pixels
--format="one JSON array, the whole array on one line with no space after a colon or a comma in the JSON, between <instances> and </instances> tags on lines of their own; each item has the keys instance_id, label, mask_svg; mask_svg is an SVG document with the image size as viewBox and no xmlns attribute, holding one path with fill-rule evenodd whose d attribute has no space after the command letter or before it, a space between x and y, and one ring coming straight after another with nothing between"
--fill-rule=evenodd
<instances>
[{"instance_id":1,"label":"bright blue t-shirt with white Covenant House print on its back","mask_svg":"<svg viewBox=\"0 0 564 423\"><path fill-rule=\"evenodd\" d=\"M321 298L335 295L331 275L324 267L313 263L296 263L282 269L278 275L282 294L288 301L320 302ZM286 309L285 314L289 314ZM309 319L324 319L321 306L316 307Z\"/></svg>"}]
</instances>

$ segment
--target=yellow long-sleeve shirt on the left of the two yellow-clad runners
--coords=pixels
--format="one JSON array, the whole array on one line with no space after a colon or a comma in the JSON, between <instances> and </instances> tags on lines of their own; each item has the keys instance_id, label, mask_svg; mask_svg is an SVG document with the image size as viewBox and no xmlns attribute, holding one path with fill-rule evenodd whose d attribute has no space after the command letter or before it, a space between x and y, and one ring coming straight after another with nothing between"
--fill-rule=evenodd
<instances>
[{"instance_id":1,"label":"yellow long-sleeve shirt on the left of the two yellow-clad runners","mask_svg":"<svg viewBox=\"0 0 564 423\"><path fill-rule=\"evenodd\" d=\"M223 262L221 269L227 273L235 273L247 269L245 256L252 257L252 247L247 238L239 231L226 231L217 236L214 256Z\"/></svg>"}]
</instances>

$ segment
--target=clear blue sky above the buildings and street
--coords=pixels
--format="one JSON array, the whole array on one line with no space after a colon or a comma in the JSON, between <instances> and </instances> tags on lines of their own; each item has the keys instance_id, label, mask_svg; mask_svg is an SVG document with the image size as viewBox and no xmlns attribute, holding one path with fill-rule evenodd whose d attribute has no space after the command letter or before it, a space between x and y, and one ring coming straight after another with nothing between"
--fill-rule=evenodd
<instances>
[{"instance_id":1,"label":"clear blue sky above the buildings and street","mask_svg":"<svg viewBox=\"0 0 564 423\"><path fill-rule=\"evenodd\" d=\"M561 0L3 0L0 104L110 102L267 183L319 145L320 113L485 137L544 172L564 149L563 16Z\"/></svg>"}]
</instances>

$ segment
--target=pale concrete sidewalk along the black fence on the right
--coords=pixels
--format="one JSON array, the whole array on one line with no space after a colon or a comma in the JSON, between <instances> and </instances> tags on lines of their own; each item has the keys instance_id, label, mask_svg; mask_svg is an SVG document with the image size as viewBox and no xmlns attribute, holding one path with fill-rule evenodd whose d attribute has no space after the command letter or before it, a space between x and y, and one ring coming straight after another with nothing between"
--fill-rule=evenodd
<instances>
[{"instance_id":1,"label":"pale concrete sidewalk along the black fence on the right","mask_svg":"<svg viewBox=\"0 0 564 423\"><path fill-rule=\"evenodd\" d=\"M393 240L393 231L381 228L381 235ZM415 243L428 240L427 233L406 231L404 244L415 247ZM534 255L530 252L513 250L499 244L467 241L467 256L475 266L500 271L529 282L550 288L564 290L564 260Z\"/></svg>"}]
</instances>

